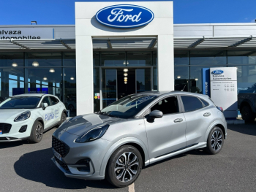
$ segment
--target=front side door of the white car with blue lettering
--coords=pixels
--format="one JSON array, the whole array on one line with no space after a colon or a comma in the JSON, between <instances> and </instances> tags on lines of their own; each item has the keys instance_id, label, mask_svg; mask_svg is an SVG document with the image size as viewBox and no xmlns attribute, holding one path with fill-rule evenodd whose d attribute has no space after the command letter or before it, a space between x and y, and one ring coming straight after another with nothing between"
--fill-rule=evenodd
<instances>
[{"instance_id":1,"label":"front side door of the white car with blue lettering","mask_svg":"<svg viewBox=\"0 0 256 192\"><path fill-rule=\"evenodd\" d=\"M43 103L47 103L48 107L43 109ZM50 101L49 96L45 96L42 99L41 106L42 106L42 116L43 116L44 125L45 125L45 129L46 129L46 128L49 128L53 124L53 117L54 117L53 107L51 106L51 101Z\"/></svg>"}]
</instances>

